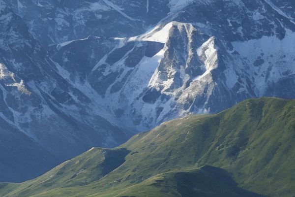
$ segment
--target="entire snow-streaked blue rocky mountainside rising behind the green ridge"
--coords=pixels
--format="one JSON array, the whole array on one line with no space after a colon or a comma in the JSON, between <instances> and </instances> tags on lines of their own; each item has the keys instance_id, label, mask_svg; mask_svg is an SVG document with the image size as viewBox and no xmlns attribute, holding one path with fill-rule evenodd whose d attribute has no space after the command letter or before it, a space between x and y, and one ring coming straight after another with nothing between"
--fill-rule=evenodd
<instances>
[{"instance_id":1,"label":"entire snow-streaked blue rocky mountainside rising behind the green ridge","mask_svg":"<svg viewBox=\"0 0 295 197\"><path fill-rule=\"evenodd\" d=\"M11 130L35 144L38 158L46 156L34 169L40 174L189 113L216 113L248 98L294 98L294 6L0 0L0 134ZM15 144L0 146L18 158ZM0 159L8 172L10 159Z\"/></svg>"}]
</instances>

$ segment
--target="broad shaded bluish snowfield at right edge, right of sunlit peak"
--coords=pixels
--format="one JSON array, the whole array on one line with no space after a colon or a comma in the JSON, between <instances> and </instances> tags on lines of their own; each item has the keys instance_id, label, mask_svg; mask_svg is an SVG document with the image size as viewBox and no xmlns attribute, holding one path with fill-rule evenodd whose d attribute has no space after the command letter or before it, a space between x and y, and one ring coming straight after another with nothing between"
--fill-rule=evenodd
<instances>
[{"instance_id":1,"label":"broad shaded bluish snowfield at right edge, right of sunlit peak","mask_svg":"<svg viewBox=\"0 0 295 197\"><path fill-rule=\"evenodd\" d=\"M254 78L257 96L264 94L267 82L276 82L284 72L295 73L294 42L295 32L288 29L282 40L274 35L244 42L232 42L233 51L238 52L243 60L236 64L245 64L250 68L246 70Z\"/></svg>"}]
</instances>

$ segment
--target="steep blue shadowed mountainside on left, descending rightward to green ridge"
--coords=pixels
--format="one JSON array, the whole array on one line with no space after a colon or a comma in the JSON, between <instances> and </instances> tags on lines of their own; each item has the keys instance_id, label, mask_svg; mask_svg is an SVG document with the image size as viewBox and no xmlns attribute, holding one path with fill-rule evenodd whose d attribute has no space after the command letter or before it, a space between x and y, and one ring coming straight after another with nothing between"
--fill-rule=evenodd
<instances>
[{"instance_id":1,"label":"steep blue shadowed mountainside on left, descending rightward to green ridge","mask_svg":"<svg viewBox=\"0 0 295 197\"><path fill-rule=\"evenodd\" d=\"M10 169L0 181L27 180L93 146L115 146L131 136L132 130L123 131L107 109L93 102L97 93L90 85L82 92L67 81L85 81L85 70L74 67L71 75L53 62L9 7L1 7L0 19L0 120L7 125L1 124L0 134L1 146L9 147L0 164ZM18 135L15 140L7 137L10 130L10 138ZM18 151L24 146L30 147ZM20 158L15 160L16 171L7 165L13 158ZM22 169L26 170L18 175Z\"/></svg>"}]
</instances>

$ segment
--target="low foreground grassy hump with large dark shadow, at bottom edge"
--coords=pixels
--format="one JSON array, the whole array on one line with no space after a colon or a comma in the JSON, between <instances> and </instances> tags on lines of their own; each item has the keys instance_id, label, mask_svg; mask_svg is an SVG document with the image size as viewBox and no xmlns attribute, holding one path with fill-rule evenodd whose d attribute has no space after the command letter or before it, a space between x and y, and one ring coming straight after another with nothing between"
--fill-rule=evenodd
<instances>
[{"instance_id":1,"label":"low foreground grassy hump with large dark shadow, at bottom edge","mask_svg":"<svg viewBox=\"0 0 295 197\"><path fill-rule=\"evenodd\" d=\"M104 197L262 197L236 186L226 171L212 166L157 174ZM94 195L96 196L96 194Z\"/></svg>"}]
</instances>

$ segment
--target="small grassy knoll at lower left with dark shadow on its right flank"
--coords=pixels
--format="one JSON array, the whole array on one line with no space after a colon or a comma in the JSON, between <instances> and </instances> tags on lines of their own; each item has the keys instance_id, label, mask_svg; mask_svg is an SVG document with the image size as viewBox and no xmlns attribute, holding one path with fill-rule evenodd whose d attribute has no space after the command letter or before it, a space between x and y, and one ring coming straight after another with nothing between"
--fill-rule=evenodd
<instances>
[{"instance_id":1,"label":"small grassy knoll at lower left with dark shadow on its right flank","mask_svg":"<svg viewBox=\"0 0 295 197\"><path fill-rule=\"evenodd\" d=\"M129 151L124 148L92 148L84 154L58 165L39 178L25 182L23 184L25 187L21 187L21 194L17 196L32 196L38 194L40 190L51 190L60 186L64 188L87 185L116 169L125 161L124 158L128 153ZM12 187L7 184L3 188Z\"/></svg>"}]
</instances>

